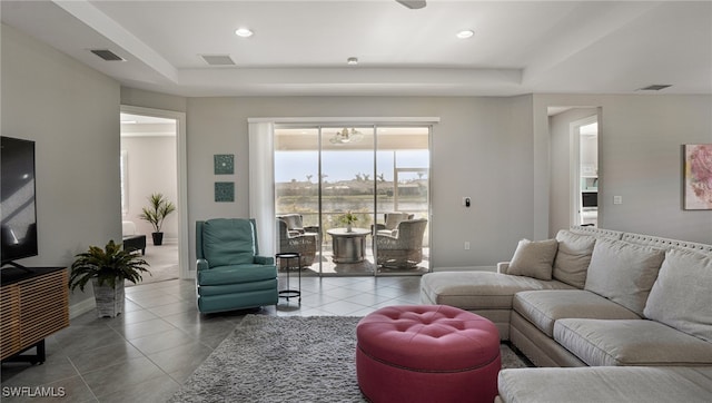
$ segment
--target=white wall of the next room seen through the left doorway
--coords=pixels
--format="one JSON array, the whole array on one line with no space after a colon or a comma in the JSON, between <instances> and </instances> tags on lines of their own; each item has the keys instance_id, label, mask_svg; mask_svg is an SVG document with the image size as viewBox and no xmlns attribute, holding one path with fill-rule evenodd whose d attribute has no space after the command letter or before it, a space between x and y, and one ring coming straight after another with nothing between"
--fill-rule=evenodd
<instances>
[{"instance_id":1,"label":"white wall of the next room seen through the left doorway","mask_svg":"<svg viewBox=\"0 0 712 403\"><path fill-rule=\"evenodd\" d=\"M154 227L139 216L154 193L162 194L174 205L178 200L176 137L121 137L121 150L127 151L129 200L128 214L122 219L136 223L137 233L145 234L150 243ZM178 238L176 213L166 218L161 230L166 239Z\"/></svg>"}]
</instances>

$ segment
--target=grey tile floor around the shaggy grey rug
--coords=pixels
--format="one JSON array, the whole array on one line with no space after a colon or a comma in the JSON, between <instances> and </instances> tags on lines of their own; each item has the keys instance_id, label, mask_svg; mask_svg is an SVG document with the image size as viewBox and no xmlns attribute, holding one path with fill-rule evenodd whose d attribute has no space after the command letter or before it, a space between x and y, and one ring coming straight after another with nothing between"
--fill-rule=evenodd
<instances>
[{"instance_id":1,"label":"grey tile floor around the shaggy grey rug","mask_svg":"<svg viewBox=\"0 0 712 403\"><path fill-rule=\"evenodd\" d=\"M291 287L296 277L291 274ZM2 364L2 402L164 402L246 314L364 316L379 307L419 303L415 277L301 277L301 305L201 315L192 281L126 288L125 313L99 318L91 311L47 338L42 365ZM280 273L280 289L284 273ZM24 390L23 396L9 396ZM30 396L29 394L34 394Z\"/></svg>"}]
</instances>

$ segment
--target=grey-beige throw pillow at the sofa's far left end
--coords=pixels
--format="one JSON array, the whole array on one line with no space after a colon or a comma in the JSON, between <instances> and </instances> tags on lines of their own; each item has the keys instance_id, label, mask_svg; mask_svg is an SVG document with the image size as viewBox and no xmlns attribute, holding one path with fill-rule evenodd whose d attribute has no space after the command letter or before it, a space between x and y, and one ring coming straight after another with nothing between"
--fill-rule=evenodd
<instances>
[{"instance_id":1,"label":"grey-beige throw pillow at the sofa's far left end","mask_svg":"<svg viewBox=\"0 0 712 403\"><path fill-rule=\"evenodd\" d=\"M507 274L538 279L552 279L552 264L556 256L556 239L522 239L516 246Z\"/></svg>"}]
</instances>

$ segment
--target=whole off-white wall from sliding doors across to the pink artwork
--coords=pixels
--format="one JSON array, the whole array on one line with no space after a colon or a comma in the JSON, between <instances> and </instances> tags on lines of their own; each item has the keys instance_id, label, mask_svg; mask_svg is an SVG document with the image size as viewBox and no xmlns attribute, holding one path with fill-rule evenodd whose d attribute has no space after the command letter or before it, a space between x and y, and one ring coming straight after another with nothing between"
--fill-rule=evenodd
<instances>
[{"instance_id":1,"label":"whole off-white wall from sliding doors across to the pink artwork","mask_svg":"<svg viewBox=\"0 0 712 403\"><path fill-rule=\"evenodd\" d=\"M600 171L605 191L600 196L604 210L600 225L712 243L712 213L680 207L680 145L712 142L711 100L709 96L191 98L189 222L248 214L249 117L435 116L441 124L433 134L432 262L436 268L493 266L511 257L520 238L541 239L568 226L567 219L564 225L558 218L567 207L550 208L567 203L568 196L560 199L560 179L552 177L555 160L546 107L585 105L603 107ZM222 153L236 155L234 204L212 200L212 155ZM613 206L613 195L623 196L624 204ZM461 206L463 196L472 197L472 208ZM465 240L471 250L464 250Z\"/></svg>"}]
</instances>

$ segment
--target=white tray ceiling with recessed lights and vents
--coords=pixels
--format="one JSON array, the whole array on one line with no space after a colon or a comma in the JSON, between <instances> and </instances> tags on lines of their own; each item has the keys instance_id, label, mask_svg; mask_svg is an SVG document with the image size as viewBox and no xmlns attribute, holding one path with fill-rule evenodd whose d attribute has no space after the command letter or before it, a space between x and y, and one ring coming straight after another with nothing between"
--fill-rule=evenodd
<instances>
[{"instance_id":1,"label":"white tray ceiling with recessed lights and vents","mask_svg":"<svg viewBox=\"0 0 712 403\"><path fill-rule=\"evenodd\" d=\"M711 1L3 0L1 17L126 86L181 96L712 94Z\"/></svg>"}]
</instances>

